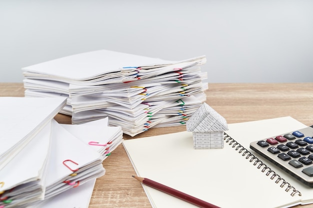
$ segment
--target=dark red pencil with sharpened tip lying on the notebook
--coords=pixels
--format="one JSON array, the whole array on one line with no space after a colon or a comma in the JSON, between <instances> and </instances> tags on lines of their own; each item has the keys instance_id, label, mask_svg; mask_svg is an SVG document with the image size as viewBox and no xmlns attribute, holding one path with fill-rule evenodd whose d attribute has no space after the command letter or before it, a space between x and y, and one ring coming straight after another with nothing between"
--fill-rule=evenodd
<instances>
[{"instance_id":1,"label":"dark red pencil with sharpened tip lying on the notebook","mask_svg":"<svg viewBox=\"0 0 313 208\"><path fill-rule=\"evenodd\" d=\"M197 207L200 207L200 208L219 208L215 205L212 205L210 203L207 203L207 202L204 202L203 200L200 200L200 199L197 199L195 197L192 197L190 195L187 195L185 193L182 193L178 190L175 190L175 189L172 189L170 187L167 187L167 186L164 186L160 183L157 183L155 181L152 181L150 179L146 179L146 178L141 178L141 177L137 177L137 176L132 176L133 178L137 179L138 181L140 181L142 184L145 184L149 187L152 187L156 190L159 190L161 192L164 192L168 195L171 195L173 197L176 197L178 199L181 199L185 202L188 202L192 205L195 205Z\"/></svg>"}]
</instances>

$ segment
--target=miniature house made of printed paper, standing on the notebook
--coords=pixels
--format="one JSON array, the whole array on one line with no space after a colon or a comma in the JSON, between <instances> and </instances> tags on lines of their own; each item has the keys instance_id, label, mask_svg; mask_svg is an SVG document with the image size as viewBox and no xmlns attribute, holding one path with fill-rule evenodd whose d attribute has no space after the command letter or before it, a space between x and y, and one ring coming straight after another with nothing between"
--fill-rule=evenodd
<instances>
[{"instance_id":1,"label":"miniature house made of printed paper, standing on the notebook","mask_svg":"<svg viewBox=\"0 0 313 208\"><path fill-rule=\"evenodd\" d=\"M224 147L224 131L228 130L226 120L213 108L203 103L186 122L192 132L194 149L217 149Z\"/></svg>"}]
</instances>

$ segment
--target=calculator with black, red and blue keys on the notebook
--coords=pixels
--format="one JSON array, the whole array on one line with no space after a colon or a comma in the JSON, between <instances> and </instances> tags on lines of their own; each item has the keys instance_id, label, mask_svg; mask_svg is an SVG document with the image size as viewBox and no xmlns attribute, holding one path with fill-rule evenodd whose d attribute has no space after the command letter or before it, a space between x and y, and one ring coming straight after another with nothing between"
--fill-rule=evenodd
<instances>
[{"instance_id":1,"label":"calculator with black, red and blue keys on the notebook","mask_svg":"<svg viewBox=\"0 0 313 208\"><path fill-rule=\"evenodd\" d=\"M250 143L250 149L313 187L313 125Z\"/></svg>"}]
</instances>

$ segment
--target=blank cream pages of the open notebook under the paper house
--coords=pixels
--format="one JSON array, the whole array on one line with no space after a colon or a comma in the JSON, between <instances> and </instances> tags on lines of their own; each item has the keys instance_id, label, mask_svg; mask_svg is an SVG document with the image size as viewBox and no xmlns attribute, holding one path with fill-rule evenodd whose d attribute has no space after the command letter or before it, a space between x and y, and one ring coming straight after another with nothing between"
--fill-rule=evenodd
<instances>
[{"instance_id":1,"label":"blank cream pages of the open notebook under the paper house","mask_svg":"<svg viewBox=\"0 0 313 208\"><path fill-rule=\"evenodd\" d=\"M140 177L222 208L282 208L313 203L313 189L264 161L248 149L249 143L304 127L291 117L228 124L224 149L193 149L191 132L125 140L123 145ZM274 172L262 172L246 159L246 151ZM153 208L194 207L143 188Z\"/></svg>"}]
</instances>

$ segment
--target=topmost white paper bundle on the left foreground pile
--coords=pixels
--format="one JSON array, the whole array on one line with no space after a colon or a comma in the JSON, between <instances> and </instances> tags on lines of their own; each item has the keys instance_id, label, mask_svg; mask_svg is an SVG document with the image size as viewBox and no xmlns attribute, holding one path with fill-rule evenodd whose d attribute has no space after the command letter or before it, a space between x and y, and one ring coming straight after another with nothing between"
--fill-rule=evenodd
<instances>
[{"instance_id":1,"label":"topmost white paper bundle on the left foreground pile","mask_svg":"<svg viewBox=\"0 0 313 208\"><path fill-rule=\"evenodd\" d=\"M0 170L64 105L64 98L0 97Z\"/></svg>"}]
</instances>

